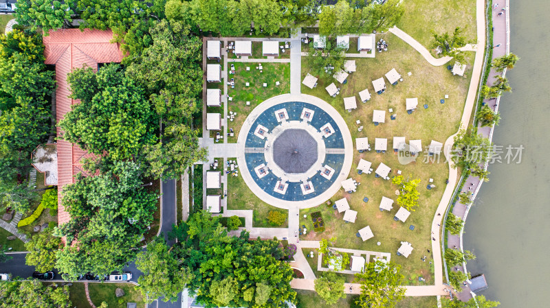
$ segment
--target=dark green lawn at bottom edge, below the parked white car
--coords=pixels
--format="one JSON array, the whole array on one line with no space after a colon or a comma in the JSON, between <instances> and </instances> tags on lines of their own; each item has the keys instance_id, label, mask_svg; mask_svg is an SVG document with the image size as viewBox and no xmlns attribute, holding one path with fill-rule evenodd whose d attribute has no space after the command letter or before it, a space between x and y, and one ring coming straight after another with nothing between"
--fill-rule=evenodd
<instances>
[{"instance_id":1,"label":"dark green lawn at bottom edge, below the parked white car","mask_svg":"<svg viewBox=\"0 0 550 308\"><path fill-rule=\"evenodd\" d=\"M117 298L115 289L124 290L124 296ZM145 307L142 294L130 283L88 283L90 299L96 307L107 302L109 308L126 308L126 303L137 303L137 307ZM69 287L71 307L91 308L86 298L84 283L73 283ZM120 301L120 303L119 303Z\"/></svg>"}]
</instances>

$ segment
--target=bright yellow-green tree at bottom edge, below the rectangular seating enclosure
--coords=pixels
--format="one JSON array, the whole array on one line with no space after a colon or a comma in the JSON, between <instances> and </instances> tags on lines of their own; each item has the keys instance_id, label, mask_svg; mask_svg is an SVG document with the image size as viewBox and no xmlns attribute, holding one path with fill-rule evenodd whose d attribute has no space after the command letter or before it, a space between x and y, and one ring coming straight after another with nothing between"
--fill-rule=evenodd
<instances>
[{"instance_id":1,"label":"bright yellow-green tree at bottom edge, below the rectangular seating enclosure","mask_svg":"<svg viewBox=\"0 0 550 308\"><path fill-rule=\"evenodd\" d=\"M361 295L355 301L362 308L393 308L405 296L405 277L401 266L393 262L369 262L364 272L355 274L361 284Z\"/></svg>"}]
</instances>

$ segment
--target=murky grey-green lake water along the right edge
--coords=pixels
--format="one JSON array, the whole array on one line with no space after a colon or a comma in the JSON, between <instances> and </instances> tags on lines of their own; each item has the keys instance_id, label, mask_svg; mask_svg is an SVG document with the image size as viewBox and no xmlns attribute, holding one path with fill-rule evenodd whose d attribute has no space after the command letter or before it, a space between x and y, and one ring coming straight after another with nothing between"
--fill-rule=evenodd
<instances>
[{"instance_id":1,"label":"murky grey-green lake water along the right edge","mask_svg":"<svg viewBox=\"0 0 550 308\"><path fill-rule=\"evenodd\" d=\"M520 56L507 73L513 93L500 100L496 145L523 145L520 164L489 165L467 218L464 249L477 259L499 308L550 307L550 19L548 0L510 1L511 52Z\"/></svg>"}]
</instances>

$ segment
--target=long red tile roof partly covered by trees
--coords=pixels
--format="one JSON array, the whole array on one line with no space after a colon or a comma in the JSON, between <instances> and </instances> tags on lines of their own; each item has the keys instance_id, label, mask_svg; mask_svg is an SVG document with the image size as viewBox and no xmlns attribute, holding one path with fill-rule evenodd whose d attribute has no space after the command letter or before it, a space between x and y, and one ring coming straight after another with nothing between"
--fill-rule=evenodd
<instances>
[{"instance_id":1,"label":"long red tile roof partly covered by trees","mask_svg":"<svg viewBox=\"0 0 550 308\"><path fill-rule=\"evenodd\" d=\"M45 64L56 66L56 121L59 122L71 110L71 106L78 104L78 99L71 99L67 73L87 64L94 71L98 70L98 63L120 62L123 58L118 43L109 43L113 38L111 30L59 29L50 30L49 36L43 37ZM63 134L57 128L57 137ZM74 176L82 172L80 159L91 156L64 140L57 142L57 171L58 171L58 223L69 222L71 217L61 204L63 186L74 182Z\"/></svg>"}]
</instances>

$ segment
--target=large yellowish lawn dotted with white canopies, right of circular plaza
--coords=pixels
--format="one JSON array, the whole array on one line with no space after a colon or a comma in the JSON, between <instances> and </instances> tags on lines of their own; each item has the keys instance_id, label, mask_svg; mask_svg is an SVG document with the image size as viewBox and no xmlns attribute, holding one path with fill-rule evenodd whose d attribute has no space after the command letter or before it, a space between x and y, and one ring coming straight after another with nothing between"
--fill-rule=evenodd
<instances>
[{"instance_id":1,"label":"large yellowish lawn dotted with white canopies, right of circular plaza","mask_svg":"<svg viewBox=\"0 0 550 308\"><path fill-rule=\"evenodd\" d=\"M322 239L336 237L336 247L351 248L360 250L369 250L375 252L391 252L392 260L402 265L401 272L406 276L410 285L426 285L433 283L433 268L429 264L432 259L428 249L431 250L430 224L435 215L443 190L445 180L448 177L448 165L444 158L439 163L424 162L424 155L417 158L415 163L401 165L397 159L397 154L392 150L393 137L406 137L407 142L410 139L421 139L424 147L428 146L433 139L444 143L445 140L458 130L458 124L463 112L465 97L467 95L468 78L455 78L443 67L432 67L424 60L417 51L409 45L394 36L386 34L377 36L383 37L391 45L389 51L376 55L372 59L355 59L358 71L352 73L347 84L340 84L340 95L336 98L329 97L325 86L335 80L319 80L319 84L314 89L302 87L302 93L315 95L334 106L344 117L348 124L353 138L369 137L371 147L374 146L375 138L388 139L388 152L386 154L377 154L374 150L359 154L354 152L353 165L350 176L362 182L357 192L349 194L340 190L331 200L334 202L340 198L347 198L351 209L358 211L358 217L354 224L346 224L342 220L343 213L338 213L331 207L322 204L316 208L302 210L300 213L300 226L305 224L308 230L312 232L302 239ZM467 55L471 56L471 55ZM386 93L377 95L373 91L371 81L384 76L385 73L395 68L403 76L404 81L396 86L388 84L386 80ZM412 72L408 76L408 72ZM303 77L308 73L307 67L303 65ZM467 71L469 73L469 71ZM355 95L364 88L369 88L372 98L366 104L358 102L358 108L352 112L344 110L343 97ZM445 94L449 95L445 99L445 104L440 104ZM412 115L406 113L405 99L407 97L418 97L419 108ZM428 104L429 108L422 108L423 104ZM395 121L389 119L388 108L393 108L392 114L397 115ZM373 110L386 110L386 123L374 126L372 123ZM362 132L358 132L356 120L361 121L364 126ZM397 185L391 184L389 180L375 178L373 174L359 175L356 171L360 158L373 163L373 169L376 169L380 163L384 163L392 168L390 177L397 175L397 170L402 171L405 178L419 178L421 180L418 191L420 193L419 206L415 208L406 223L395 222L393 217L399 206L393 204L391 213L380 212L379 205L382 196L397 200L395 190L399 189ZM432 190L426 189L428 179L433 178L432 184L436 187ZM363 202L363 198L368 197L368 203ZM320 234L313 232L309 214L314 211L321 211L325 221L325 231ZM303 218L303 215L308 215ZM415 230L409 230L410 225L415 226ZM355 233L364 226L371 226L375 237L363 242L355 236ZM381 242L377 246L377 241ZM401 241L409 241L415 250L408 259L399 257L395 254ZM421 257L428 257L426 262L421 261ZM419 282L418 277L426 279L426 283Z\"/></svg>"}]
</instances>

